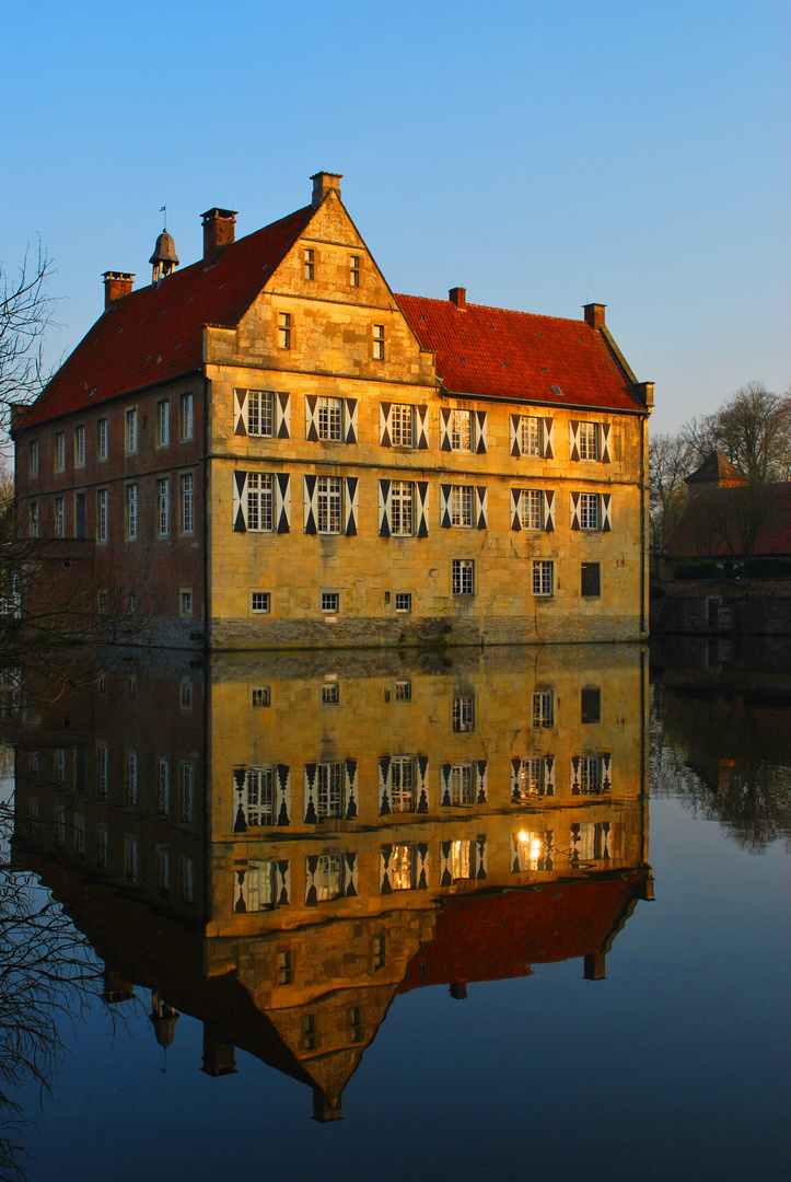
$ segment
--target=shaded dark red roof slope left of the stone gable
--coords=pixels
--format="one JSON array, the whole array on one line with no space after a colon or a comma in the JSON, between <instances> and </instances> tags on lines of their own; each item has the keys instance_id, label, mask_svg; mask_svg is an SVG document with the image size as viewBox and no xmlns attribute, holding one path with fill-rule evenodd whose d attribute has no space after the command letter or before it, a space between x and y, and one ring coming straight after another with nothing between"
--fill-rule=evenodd
<instances>
[{"instance_id":1,"label":"shaded dark red roof slope left of the stone gable","mask_svg":"<svg viewBox=\"0 0 791 1182\"><path fill-rule=\"evenodd\" d=\"M316 213L305 206L203 260L114 300L20 427L93 407L199 369L203 326L235 327Z\"/></svg>"}]
</instances>

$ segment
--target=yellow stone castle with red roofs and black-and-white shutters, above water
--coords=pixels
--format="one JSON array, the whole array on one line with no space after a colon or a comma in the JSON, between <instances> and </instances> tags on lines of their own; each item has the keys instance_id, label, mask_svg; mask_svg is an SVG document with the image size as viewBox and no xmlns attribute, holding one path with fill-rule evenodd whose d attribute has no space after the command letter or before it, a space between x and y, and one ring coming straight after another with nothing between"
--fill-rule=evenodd
<instances>
[{"instance_id":1,"label":"yellow stone castle with red roofs and black-and-white shutters, above water","mask_svg":"<svg viewBox=\"0 0 791 1182\"><path fill-rule=\"evenodd\" d=\"M647 634L651 383L584 319L395 296L317 173L203 258L163 233L14 416L20 530L157 644L378 647ZM71 579L71 583L69 582ZM86 590L87 589L87 590Z\"/></svg>"}]
</instances>

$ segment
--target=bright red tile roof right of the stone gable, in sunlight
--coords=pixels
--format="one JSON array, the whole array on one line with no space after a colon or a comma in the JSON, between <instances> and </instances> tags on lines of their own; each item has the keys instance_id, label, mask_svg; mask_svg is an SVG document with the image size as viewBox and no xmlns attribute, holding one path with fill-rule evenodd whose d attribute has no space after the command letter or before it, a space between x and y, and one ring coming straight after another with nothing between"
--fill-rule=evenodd
<instances>
[{"instance_id":1,"label":"bright red tile roof right of the stone gable, in sunlight","mask_svg":"<svg viewBox=\"0 0 791 1182\"><path fill-rule=\"evenodd\" d=\"M636 410L604 333L584 320L396 296L449 394ZM556 392L557 387L562 394Z\"/></svg>"}]
</instances>

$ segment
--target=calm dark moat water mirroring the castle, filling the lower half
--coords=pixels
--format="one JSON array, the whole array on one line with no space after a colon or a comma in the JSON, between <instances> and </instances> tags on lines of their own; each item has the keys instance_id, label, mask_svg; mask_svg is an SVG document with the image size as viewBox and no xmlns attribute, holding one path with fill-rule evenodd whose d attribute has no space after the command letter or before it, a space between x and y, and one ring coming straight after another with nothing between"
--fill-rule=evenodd
<instances>
[{"instance_id":1,"label":"calm dark moat water mirroring the castle, filling the lower half","mask_svg":"<svg viewBox=\"0 0 791 1182\"><path fill-rule=\"evenodd\" d=\"M0 1178L787 1176L791 667L26 674Z\"/></svg>"}]
</instances>

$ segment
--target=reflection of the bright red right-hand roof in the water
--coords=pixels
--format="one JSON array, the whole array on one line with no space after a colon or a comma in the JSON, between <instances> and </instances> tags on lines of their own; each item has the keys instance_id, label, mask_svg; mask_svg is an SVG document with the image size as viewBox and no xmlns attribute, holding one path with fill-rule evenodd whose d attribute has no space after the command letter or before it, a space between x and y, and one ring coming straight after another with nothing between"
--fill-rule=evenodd
<instances>
[{"instance_id":1,"label":"reflection of the bright red right-hand roof in the water","mask_svg":"<svg viewBox=\"0 0 791 1182\"><path fill-rule=\"evenodd\" d=\"M434 940L411 959L398 993L423 985L526 976L531 965L598 953L644 873L542 883L499 895L448 895Z\"/></svg>"}]
</instances>

